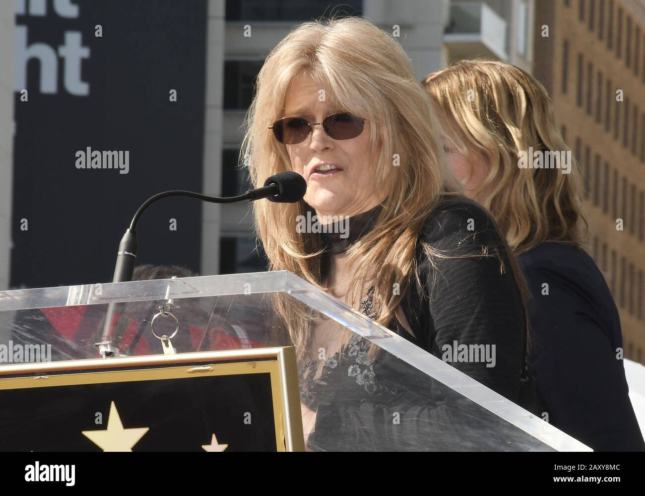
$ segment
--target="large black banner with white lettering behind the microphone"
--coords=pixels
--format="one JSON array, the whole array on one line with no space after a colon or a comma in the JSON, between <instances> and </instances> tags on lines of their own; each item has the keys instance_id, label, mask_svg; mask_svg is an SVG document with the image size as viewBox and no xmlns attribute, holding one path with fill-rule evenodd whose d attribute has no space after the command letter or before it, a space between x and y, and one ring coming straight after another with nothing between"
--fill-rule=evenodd
<instances>
[{"instance_id":1,"label":"large black banner with white lettering behind the microphone","mask_svg":"<svg viewBox=\"0 0 645 496\"><path fill-rule=\"evenodd\" d=\"M16 5L10 284L110 281L144 200L201 191L206 1ZM147 211L137 262L197 271L201 207Z\"/></svg>"}]
</instances>

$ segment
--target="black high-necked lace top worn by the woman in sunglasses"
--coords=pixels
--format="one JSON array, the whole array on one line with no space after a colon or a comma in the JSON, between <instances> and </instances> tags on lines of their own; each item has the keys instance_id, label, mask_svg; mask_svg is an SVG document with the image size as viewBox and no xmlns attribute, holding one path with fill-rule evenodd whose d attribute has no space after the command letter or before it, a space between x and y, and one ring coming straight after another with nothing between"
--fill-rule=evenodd
<instances>
[{"instance_id":1,"label":"black high-necked lace top worn by the woman in sunglasses","mask_svg":"<svg viewBox=\"0 0 645 496\"><path fill-rule=\"evenodd\" d=\"M368 232L380 210L375 207L361 214L362 218L350 218L352 242ZM357 226L359 229L353 230ZM328 253L342 253L351 245L333 236L323 236L323 240ZM421 243L444 256L431 262ZM440 359L444 347L455 343L495 346L497 361L492 367L482 360L445 361L535 413L531 408L535 387L532 380L526 380L526 315L511 256L482 207L466 198L442 200L422 225L415 247L419 278L411 276L406 282L401 302L416 338L402 329L397 319L387 327ZM372 295L370 288L361 302L361 311L367 316L372 314ZM468 439L475 437L477 446L486 444L480 434L495 429L479 426L487 414L474 411L475 403L451 393L441 382L419 375L417 369L393 355L382 353L371 360L369 347L368 340L353 336L341 351L326 358L322 367L315 360L301 365L301 400L317 414L310 446L416 449L416 440L432 438L433 448L450 449L455 446L454 439L459 439L464 449L470 446ZM450 406L442 399L446 395L452 398ZM393 424L399 415L405 420ZM452 426L459 426L459 431L444 435ZM467 435L464 426L470 426ZM447 444L440 444L439 434Z\"/></svg>"}]
</instances>

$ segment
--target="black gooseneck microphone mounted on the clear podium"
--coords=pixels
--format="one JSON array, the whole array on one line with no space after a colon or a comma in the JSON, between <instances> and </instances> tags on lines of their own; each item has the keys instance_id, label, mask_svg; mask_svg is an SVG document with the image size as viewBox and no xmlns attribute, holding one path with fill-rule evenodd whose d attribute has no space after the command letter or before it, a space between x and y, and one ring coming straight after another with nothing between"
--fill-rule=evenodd
<instances>
[{"instance_id":1,"label":"black gooseneck microphone mounted on the clear podium","mask_svg":"<svg viewBox=\"0 0 645 496\"><path fill-rule=\"evenodd\" d=\"M132 222L130 222L130 227L128 227L125 234L123 234L121 243L119 243L119 251L117 252L117 262L114 267L114 277L112 278L112 282L126 282L132 280L134 263L137 260L137 223L139 222L139 218L141 218L141 214L143 214L143 212L146 211L152 203L157 200L161 200L161 198L165 198L166 196L189 196L191 198L197 198L210 203L236 203L237 201L255 201L261 200L262 198L268 198L269 201L275 201L277 203L295 203L303 199L306 191L307 183L303 176L297 172L293 172L292 170L287 170L286 172L279 172L278 174L275 174L275 176L268 178L264 181L264 186L261 188L250 189L244 194L239 196L230 196L228 198L207 196L205 194L183 190L172 190L157 193L143 202L143 205L141 205L139 210L134 214ZM110 323L114 316L115 309L116 304L110 303L108 305L108 312L106 313L103 328L103 338L100 343L95 344L95 346L99 347L99 351L104 357L117 356L119 353L118 348L112 344L112 340L110 339Z\"/></svg>"}]
</instances>

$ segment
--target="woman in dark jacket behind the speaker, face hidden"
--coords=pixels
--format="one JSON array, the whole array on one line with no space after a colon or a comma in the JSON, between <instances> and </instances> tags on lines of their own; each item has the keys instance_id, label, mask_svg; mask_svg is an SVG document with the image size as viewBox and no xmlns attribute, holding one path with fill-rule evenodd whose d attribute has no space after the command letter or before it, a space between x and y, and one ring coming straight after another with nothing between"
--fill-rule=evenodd
<instances>
[{"instance_id":1,"label":"woman in dark jacket behind the speaker, face hidden","mask_svg":"<svg viewBox=\"0 0 645 496\"><path fill-rule=\"evenodd\" d=\"M497 220L528 280L530 369L545 419L594 450L643 450L617 358L618 311L582 249L581 174L546 90L499 61L461 61L423 85L450 167Z\"/></svg>"}]
</instances>

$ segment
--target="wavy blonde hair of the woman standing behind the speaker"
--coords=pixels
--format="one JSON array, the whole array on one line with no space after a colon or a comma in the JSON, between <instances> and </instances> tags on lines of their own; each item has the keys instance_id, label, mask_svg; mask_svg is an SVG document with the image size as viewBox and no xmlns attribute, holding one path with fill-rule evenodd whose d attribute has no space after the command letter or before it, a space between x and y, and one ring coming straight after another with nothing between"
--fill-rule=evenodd
<instances>
[{"instance_id":1,"label":"wavy blonde hair of the woman standing behind the speaker","mask_svg":"<svg viewBox=\"0 0 645 496\"><path fill-rule=\"evenodd\" d=\"M516 254L552 241L580 246L587 221L578 163L571 170L521 169L520 152L570 152L555 126L544 87L500 61L461 61L430 74L424 87L464 156L483 156L490 169L475 199L491 212ZM559 153L555 153L559 163Z\"/></svg>"}]
</instances>

